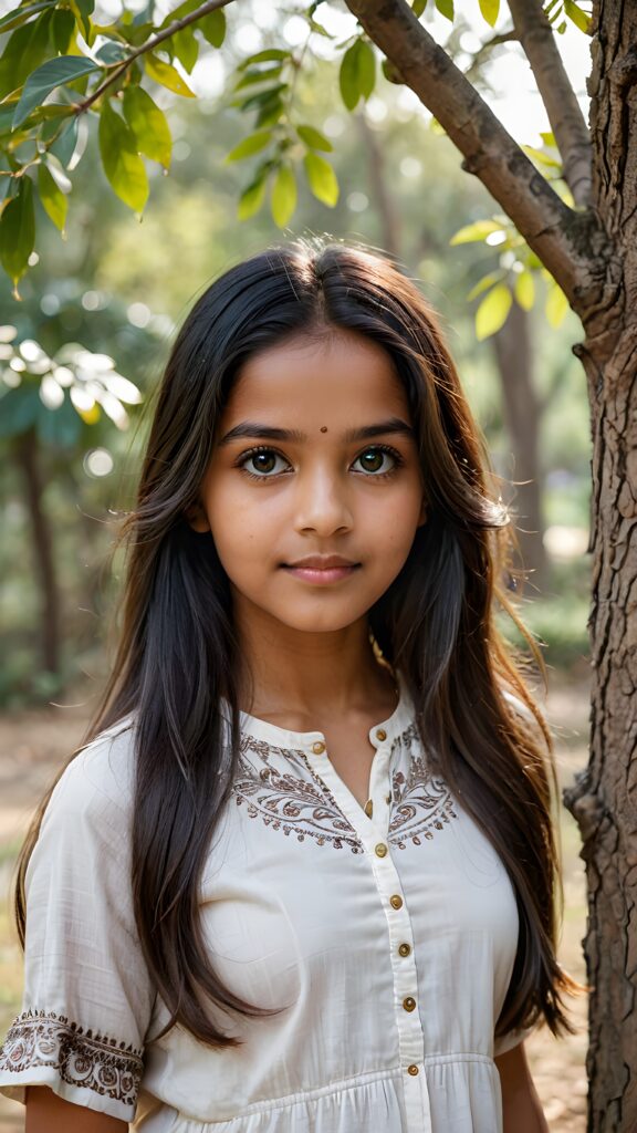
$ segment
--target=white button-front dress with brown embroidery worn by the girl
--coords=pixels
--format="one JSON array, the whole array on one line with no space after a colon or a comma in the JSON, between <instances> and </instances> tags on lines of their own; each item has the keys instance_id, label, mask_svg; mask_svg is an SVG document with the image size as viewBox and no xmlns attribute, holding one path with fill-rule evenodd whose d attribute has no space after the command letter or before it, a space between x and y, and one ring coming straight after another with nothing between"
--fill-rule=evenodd
<instances>
[{"instance_id":1,"label":"white button-front dress with brown embroidery worn by the girl","mask_svg":"<svg viewBox=\"0 0 637 1133\"><path fill-rule=\"evenodd\" d=\"M131 723L69 765L27 875L23 1014L0 1088L28 1084L144 1133L501 1133L494 1043L518 914L490 842L427 768L401 682L376 749L372 815L320 732L243 715L240 765L201 886L220 977L282 1008L226 1019L212 1050L165 1007L127 881ZM370 807L367 808L370 809Z\"/></svg>"}]
</instances>

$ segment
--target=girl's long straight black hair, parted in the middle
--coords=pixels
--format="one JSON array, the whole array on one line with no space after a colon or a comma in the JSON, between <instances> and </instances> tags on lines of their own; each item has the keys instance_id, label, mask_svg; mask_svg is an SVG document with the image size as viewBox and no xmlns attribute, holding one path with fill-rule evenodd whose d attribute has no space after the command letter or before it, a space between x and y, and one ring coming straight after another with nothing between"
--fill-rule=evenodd
<instances>
[{"instance_id":1,"label":"girl's long straight black hair, parted in the middle","mask_svg":"<svg viewBox=\"0 0 637 1133\"><path fill-rule=\"evenodd\" d=\"M273 248L218 279L181 326L159 389L125 523L119 650L90 733L134 714L133 892L148 970L171 1023L211 1046L236 1039L206 1004L226 1015L263 1013L222 983L202 935L198 884L239 742L239 658L228 578L210 533L196 534L186 517L244 363L325 327L382 347L409 403L427 519L370 611L370 628L405 676L438 770L491 840L516 892L518 951L496 1034L541 1015L553 1033L572 1031L561 995L581 987L555 957L557 894L563 898L551 738L494 620L500 604L517 621L502 586L508 516L491 491L481 434L427 303L390 262L341 245ZM513 710L507 692L526 712ZM229 729L221 698L231 709ZM46 801L20 862L23 937L24 877Z\"/></svg>"}]
</instances>

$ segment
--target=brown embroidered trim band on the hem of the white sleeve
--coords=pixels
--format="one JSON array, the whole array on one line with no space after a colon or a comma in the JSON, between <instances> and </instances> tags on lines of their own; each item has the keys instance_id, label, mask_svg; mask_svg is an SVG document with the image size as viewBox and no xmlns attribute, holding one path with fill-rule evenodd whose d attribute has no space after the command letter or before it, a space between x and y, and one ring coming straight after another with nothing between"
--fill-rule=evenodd
<instances>
[{"instance_id":1,"label":"brown embroidered trim band on the hem of the white sleeve","mask_svg":"<svg viewBox=\"0 0 637 1133\"><path fill-rule=\"evenodd\" d=\"M135 1106L144 1064L142 1050L83 1030L63 1015L27 1011L9 1029L0 1071L19 1074L50 1066L62 1082Z\"/></svg>"}]
</instances>

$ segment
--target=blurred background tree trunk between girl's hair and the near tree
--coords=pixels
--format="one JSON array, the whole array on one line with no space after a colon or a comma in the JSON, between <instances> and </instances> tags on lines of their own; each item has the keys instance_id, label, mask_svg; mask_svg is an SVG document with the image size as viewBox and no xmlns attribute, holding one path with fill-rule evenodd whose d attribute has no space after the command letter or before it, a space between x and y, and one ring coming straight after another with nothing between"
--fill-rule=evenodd
<instances>
[{"instance_id":1,"label":"blurred background tree trunk between girl's hair and the near tree","mask_svg":"<svg viewBox=\"0 0 637 1133\"><path fill-rule=\"evenodd\" d=\"M533 383L533 355L528 315L515 303L503 327L493 337L502 386L504 424L515 460L513 509L521 565L533 594L547 585L549 563L542 519L542 469L540 467L541 407ZM508 501L507 501L508 502Z\"/></svg>"}]
</instances>

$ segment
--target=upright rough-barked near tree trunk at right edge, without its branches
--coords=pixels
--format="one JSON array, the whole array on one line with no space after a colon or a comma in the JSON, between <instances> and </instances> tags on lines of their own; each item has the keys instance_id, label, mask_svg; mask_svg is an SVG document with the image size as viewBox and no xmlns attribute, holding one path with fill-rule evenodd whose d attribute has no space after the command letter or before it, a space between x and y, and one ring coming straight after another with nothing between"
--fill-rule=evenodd
<instances>
[{"instance_id":1,"label":"upright rough-barked near tree trunk at right edge, without its branches","mask_svg":"<svg viewBox=\"0 0 637 1133\"><path fill-rule=\"evenodd\" d=\"M576 348L593 431L591 761L564 803L583 837L589 1133L637 1130L637 5L596 0L594 201L614 246ZM575 304L577 309L577 303Z\"/></svg>"}]
</instances>

